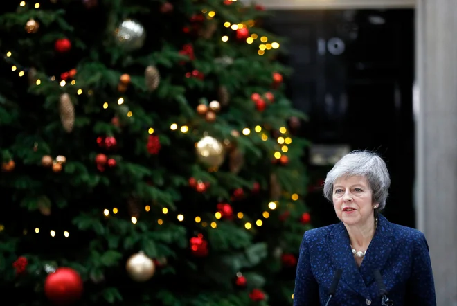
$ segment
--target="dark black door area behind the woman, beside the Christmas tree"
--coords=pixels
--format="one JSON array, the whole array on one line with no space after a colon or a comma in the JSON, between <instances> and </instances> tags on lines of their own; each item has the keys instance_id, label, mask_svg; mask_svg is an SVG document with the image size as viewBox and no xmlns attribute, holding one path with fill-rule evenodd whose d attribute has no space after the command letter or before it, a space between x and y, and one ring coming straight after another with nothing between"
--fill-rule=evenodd
<instances>
[{"instance_id":1,"label":"dark black door area behind the woman, beside the Christmas tree","mask_svg":"<svg viewBox=\"0 0 457 306\"><path fill-rule=\"evenodd\" d=\"M414 227L413 10L281 10L266 24L288 38L287 92L310 117L299 134L313 143L305 160L314 226L337 222L321 188L332 163L367 149L391 173L384 215Z\"/></svg>"}]
</instances>

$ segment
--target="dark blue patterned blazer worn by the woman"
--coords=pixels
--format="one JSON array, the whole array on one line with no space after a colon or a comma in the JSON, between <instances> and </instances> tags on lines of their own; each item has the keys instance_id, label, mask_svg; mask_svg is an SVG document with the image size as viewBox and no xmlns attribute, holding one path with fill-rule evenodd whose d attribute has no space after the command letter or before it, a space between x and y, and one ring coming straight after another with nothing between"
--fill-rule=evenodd
<instances>
[{"instance_id":1,"label":"dark blue patterned blazer worn by the woman","mask_svg":"<svg viewBox=\"0 0 457 306\"><path fill-rule=\"evenodd\" d=\"M296 269L294 306L324 306L337 269L342 270L342 276L329 306L380 306L376 269L394 306L436 306L424 234L392 224L382 215L360 267L343 222L305 232Z\"/></svg>"}]
</instances>

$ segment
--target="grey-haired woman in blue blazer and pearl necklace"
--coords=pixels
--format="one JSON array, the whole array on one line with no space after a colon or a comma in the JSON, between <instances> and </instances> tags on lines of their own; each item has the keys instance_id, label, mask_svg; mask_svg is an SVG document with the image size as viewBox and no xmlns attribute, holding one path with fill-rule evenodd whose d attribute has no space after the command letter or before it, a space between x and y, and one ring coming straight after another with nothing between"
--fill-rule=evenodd
<instances>
[{"instance_id":1,"label":"grey-haired woman in blue blazer and pearl necklace","mask_svg":"<svg viewBox=\"0 0 457 306\"><path fill-rule=\"evenodd\" d=\"M436 306L424 234L379 214L390 184L386 163L367 151L343 156L328 172L324 196L341 222L303 236L294 306L392 305L382 298L395 306ZM383 286L386 295L379 294Z\"/></svg>"}]
</instances>

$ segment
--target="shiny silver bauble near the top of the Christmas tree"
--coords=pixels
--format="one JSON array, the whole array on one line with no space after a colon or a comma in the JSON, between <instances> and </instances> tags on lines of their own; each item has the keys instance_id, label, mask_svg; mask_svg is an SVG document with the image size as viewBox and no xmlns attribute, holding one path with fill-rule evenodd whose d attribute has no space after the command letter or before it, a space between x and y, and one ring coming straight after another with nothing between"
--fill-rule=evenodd
<instances>
[{"instance_id":1,"label":"shiny silver bauble near the top of the Christmas tree","mask_svg":"<svg viewBox=\"0 0 457 306\"><path fill-rule=\"evenodd\" d=\"M125 50L134 51L145 43L145 28L132 19L125 19L116 29L116 41Z\"/></svg>"}]
</instances>

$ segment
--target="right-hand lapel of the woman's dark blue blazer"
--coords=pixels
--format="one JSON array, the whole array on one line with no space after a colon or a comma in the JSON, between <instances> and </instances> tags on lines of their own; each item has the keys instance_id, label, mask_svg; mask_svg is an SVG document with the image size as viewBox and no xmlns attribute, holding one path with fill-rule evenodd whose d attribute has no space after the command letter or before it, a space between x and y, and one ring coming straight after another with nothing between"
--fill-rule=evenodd
<instances>
[{"instance_id":1,"label":"right-hand lapel of the woman's dark blue blazer","mask_svg":"<svg viewBox=\"0 0 457 306\"><path fill-rule=\"evenodd\" d=\"M381 271L391 255L393 238L391 222L383 215L379 215L375 235L360 266L360 273L367 287L375 280L373 272L377 269Z\"/></svg>"}]
</instances>

